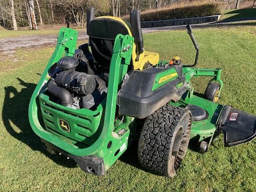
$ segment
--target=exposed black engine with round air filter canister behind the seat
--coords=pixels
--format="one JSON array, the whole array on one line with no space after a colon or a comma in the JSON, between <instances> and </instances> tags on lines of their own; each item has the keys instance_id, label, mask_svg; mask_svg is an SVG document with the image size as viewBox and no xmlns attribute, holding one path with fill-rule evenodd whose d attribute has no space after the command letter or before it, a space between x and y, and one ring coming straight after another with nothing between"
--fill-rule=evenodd
<instances>
[{"instance_id":1,"label":"exposed black engine with round air filter canister behind the seat","mask_svg":"<svg viewBox=\"0 0 256 192\"><path fill-rule=\"evenodd\" d=\"M106 97L108 74L97 73L78 49L54 65L47 85L50 100L73 109L93 109Z\"/></svg>"}]
</instances>

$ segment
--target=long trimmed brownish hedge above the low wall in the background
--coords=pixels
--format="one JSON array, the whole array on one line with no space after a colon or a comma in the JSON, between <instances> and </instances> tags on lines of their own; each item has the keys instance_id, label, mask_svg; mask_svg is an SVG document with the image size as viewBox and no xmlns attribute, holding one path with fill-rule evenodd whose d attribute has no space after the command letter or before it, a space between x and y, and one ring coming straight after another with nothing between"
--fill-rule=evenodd
<instances>
[{"instance_id":1,"label":"long trimmed brownish hedge above the low wall in the background","mask_svg":"<svg viewBox=\"0 0 256 192\"><path fill-rule=\"evenodd\" d=\"M183 19L220 14L221 8L219 4L192 4L182 7L169 7L145 11L141 13L141 21ZM124 16L123 18L130 20L129 16Z\"/></svg>"}]
</instances>

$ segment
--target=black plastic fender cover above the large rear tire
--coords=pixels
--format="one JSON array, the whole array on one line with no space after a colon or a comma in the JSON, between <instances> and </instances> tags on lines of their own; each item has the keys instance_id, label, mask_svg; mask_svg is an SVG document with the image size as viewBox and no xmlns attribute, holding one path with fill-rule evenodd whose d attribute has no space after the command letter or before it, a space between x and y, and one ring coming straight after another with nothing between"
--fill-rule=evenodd
<instances>
[{"instance_id":1,"label":"black plastic fender cover above the large rear tire","mask_svg":"<svg viewBox=\"0 0 256 192\"><path fill-rule=\"evenodd\" d=\"M151 115L169 101L178 101L184 92L185 77L180 76L162 87L152 91L152 87L159 72L170 68L148 68L143 71L132 71L122 84L118 92L119 114L139 119ZM179 74L179 70L177 70ZM181 88L176 85L183 82Z\"/></svg>"}]
</instances>

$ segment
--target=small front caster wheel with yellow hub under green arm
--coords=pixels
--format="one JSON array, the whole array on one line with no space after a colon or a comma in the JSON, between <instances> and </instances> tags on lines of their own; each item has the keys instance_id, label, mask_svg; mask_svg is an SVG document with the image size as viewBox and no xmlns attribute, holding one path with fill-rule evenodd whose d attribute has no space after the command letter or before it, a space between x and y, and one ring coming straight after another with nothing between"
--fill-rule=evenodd
<instances>
[{"instance_id":1,"label":"small front caster wheel with yellow hub under green arm","mask_svg":"<svg viewBox=\"0 0 256 192\"><path fill-rule=\"evenodd\" d=\"M217 83L211 82L210 84L208 84L204 92L205 99L213 101L215 103L218 102L220 97L219 89L220 86Z\"/></svg>"}]
</instances>

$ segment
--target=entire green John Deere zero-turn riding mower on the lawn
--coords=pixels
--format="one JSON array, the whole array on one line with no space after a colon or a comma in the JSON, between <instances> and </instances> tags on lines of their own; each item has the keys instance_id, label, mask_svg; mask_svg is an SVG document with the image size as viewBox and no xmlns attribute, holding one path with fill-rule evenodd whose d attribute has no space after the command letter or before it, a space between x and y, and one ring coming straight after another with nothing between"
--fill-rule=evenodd
<instances>
[{"instance_id":1,"label":"entire green John Deere zero-turn riding mower on the lawn","mask_svg":"<svg viewBox=\"0 0 256 192\"><path fill-rule=\"evenodd\" d=\"M256 116L216 103L221 69L194 68L199 46L191 26L186 29L196 49L191 65L144 50L138 10L128 23L94 18L94 8L88 8L89 44L78 49L77 31L61 28L29 104L29 121L43 146L102 176L138 142L142 167L172 177L189 141L203 153L219 133L225 146L253 140ZM193 94L193 76L212 77L204 98Z\"/></svg>"}]
</instances>

